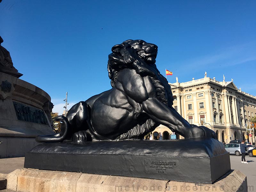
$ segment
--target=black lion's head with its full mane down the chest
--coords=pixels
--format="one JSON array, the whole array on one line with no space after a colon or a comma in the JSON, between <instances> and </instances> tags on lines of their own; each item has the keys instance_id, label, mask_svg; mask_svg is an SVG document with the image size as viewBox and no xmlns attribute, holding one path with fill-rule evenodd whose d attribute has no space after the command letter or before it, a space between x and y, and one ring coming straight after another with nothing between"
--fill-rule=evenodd
<instances>
[{"instance_id":1,"label":"black lion's head with its full mane down the chest","mask_svg":"<svg viewBox=\"0 0 256 192\"><path fill-rule=\"evenodd\" d=\"M112 47L108 55L108 76L114 87L116 77L124 68L135 69L141 76L151 76L158 91L158 98L169 107L172 106L172 92L166 78L156 68L157 46L143 40L126 40Z\"/></svg>"}]
</instances>

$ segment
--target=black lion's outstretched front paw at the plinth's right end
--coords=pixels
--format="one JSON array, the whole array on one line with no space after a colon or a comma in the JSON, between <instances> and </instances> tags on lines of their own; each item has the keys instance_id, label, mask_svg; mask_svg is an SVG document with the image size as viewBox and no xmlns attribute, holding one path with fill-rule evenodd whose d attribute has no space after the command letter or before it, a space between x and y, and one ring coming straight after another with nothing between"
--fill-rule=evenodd
<instances>
[{"instance_id":1,"label":"black lion's outstretched front paw at the plinth's right end","mask_svg":"<svg viewBox=\"0 0 256 192\"><path fill-rule=\"evenodd\" d=\"M216 139L216 133L205 126L192 126L185 134L185 139L189 138L214 138Z\"/></svg>"}]
</instances>

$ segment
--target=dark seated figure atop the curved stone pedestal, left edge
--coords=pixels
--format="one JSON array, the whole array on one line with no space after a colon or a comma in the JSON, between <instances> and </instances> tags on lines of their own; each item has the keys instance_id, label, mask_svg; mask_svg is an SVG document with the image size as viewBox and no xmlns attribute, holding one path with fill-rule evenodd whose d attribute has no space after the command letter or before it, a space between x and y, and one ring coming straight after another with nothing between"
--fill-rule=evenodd
<instances>
[{"instance_id":1,"label":"dark seated figure atop the curved stone pedestal, left edge","mask_svg":"<svg viewBox=\"0 0 256 192\"><path fill-rule=\"evenodd\" d=\"M15 77L20 77L22 76L21 73L18 73L18 70L13 67L13 63L12 63L12 58L10 55L10 52L7 51L2 45L1 43L3 43L4 40L3 38L0 36L0 71L7 73L9 75L15 76Z\"/></svg>"}]
</instances>

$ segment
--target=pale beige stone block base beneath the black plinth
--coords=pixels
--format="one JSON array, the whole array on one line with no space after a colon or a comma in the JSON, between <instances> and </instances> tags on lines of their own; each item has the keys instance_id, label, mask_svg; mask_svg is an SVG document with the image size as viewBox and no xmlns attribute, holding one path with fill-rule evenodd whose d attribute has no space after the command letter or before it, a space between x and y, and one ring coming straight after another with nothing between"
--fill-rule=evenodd
<instances>
[{"instance_id":1,"label":"pale beige stone block base beneath the black plinth","mask_svg":"<svg viewBox=\"0 0 256 192\"><path fill-rule=\"evenodd\" d=\"M200 184L89 173L20 169L7 175L7 189L20 192L246 192L247 179L243 173L236 170L229 171L213 184Z\"/></svg>"}]
</instances>

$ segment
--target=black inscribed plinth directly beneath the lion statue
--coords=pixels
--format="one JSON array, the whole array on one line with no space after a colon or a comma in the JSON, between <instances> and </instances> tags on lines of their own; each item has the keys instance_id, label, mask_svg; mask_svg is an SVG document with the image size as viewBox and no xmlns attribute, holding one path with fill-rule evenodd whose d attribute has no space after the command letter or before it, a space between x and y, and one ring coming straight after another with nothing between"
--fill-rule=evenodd
<instances>
[{"instance_id":1,"label":"black inscribed plinth directly beneath the lion statue","mask_svg":"<svg viewBox=\"0 0 256 192\"><path fill-rule=\"evenodd\" d=\"M43 143L26 154L24 167L213 183L230 159L215 139Z\"/></svg>"}]
</instances>

